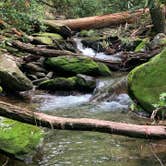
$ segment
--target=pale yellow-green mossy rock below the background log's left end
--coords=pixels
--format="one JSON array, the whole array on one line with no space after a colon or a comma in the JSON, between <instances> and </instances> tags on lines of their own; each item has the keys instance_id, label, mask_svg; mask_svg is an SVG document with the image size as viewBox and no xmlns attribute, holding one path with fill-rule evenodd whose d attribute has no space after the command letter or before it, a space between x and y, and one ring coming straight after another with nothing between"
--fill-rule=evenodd
<instances>
[{"instance_id":1,"label":"pale yellow-green mossy rock below the background log's left end","mask_svg":"<svg viewBox=\"0 0 166 166\"><path fill-rule=\"evenodd\" d=\"M40 44L52 45L54 40L63 40L63 37L56 33L38 33L34 34L34 41Z\"/></svg>"}]
</instances>

